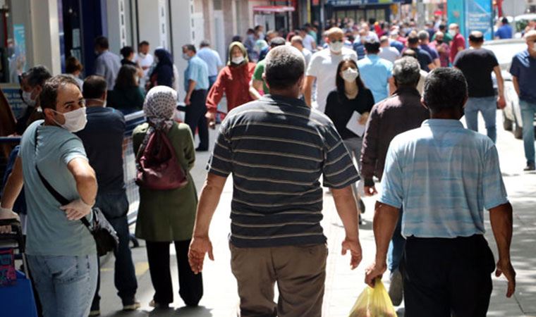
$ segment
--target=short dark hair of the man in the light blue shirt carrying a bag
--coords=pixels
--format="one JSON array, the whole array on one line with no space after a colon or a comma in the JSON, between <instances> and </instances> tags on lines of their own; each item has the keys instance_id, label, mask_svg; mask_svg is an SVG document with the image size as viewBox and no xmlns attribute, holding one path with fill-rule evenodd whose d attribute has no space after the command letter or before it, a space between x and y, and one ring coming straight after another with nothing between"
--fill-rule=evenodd
<instances>
[{"instance_id":1,"label":"short dark hair of the man in the light blue shirt carrying a bag","mask_svg":"<svg viewBox=\"0 0 536 317\"><path fill-rule=\"evenodd\" d=\"M467 92L467 81L461 70L441 67L427 75L422 98L430 111L439 112L462 106Z\"/></svg>"}]
</instances>

